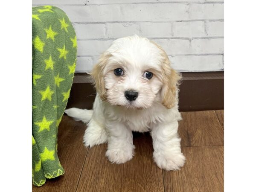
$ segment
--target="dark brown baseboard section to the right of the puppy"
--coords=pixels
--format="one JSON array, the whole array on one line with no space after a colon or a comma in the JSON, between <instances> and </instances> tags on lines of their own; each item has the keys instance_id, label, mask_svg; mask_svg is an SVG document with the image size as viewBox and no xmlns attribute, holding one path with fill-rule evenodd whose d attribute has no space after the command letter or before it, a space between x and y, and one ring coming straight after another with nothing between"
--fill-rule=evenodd
<instances>
[{"instance_id":1,"label":"dark brown baseboard section to the right of the puppy","mask_svg":"<svg viewBox=\"0 0 256 192\"><path fill-rule=\"evenodd\" d=\"M224 72L182 73L180 111L224 109Z\"/></svg>"}]
</instances>

